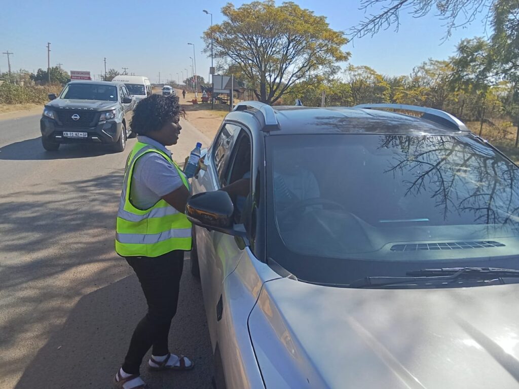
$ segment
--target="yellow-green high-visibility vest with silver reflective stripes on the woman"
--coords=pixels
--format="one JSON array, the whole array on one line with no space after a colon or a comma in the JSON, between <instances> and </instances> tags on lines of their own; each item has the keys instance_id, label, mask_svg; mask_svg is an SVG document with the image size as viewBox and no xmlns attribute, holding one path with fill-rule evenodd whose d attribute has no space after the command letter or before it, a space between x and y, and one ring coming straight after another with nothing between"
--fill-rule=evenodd
<instances>
[{"instance_id":1,"label":"yellow-green high-visibility vest with silver reflective stripes on the woman","mask_svg":"<svg viewBox=\"0 0 519 389\"><path fill-rule=\"evenodd\" d=\"M166 158L179 172L189 190L187 179L179 166L165 152L138 142L126 162L115 238L115 251L123 257L158 257L173 250L191 249L191 223L186 215L160 199L147 210L135 208L130 201L131 177L135 162L147 152Z\"/></svg>"}]
</instances>

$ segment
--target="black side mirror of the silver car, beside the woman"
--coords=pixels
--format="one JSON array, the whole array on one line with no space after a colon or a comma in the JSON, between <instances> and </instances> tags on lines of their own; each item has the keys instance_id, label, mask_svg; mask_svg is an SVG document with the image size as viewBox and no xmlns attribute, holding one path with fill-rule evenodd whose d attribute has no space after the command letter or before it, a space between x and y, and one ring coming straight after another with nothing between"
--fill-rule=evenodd
<instances>
[{"instance_id":1,"label":"black side mirror of the silver car, beside the woman","mask_svg":"<svg viewBox=\"0 0 519 389\"><path fill-rule=\"evenodd\" d=\"M244 231L233 228L233 213L233 202L223 190L198 193L186 205L186 216L194 225L245 238Z\"/></svg>"}]
</instances>

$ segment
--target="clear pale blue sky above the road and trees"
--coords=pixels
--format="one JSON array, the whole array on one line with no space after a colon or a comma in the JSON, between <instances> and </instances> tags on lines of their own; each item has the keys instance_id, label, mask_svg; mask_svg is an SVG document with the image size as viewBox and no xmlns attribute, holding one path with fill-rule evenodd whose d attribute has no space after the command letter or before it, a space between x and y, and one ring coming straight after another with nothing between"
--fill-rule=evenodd
<instances>
[{"instance_id":1,"label":"clear pale blue sky above the road and trees","mask_svg":"<svg viewBox=\"0 0 519 389\"><path fill-rule=\"evenodd\" d=\"M364 18L358 10L358 1L350 0L299 0L308 8L327 18L332 29L347 30ZM201 53L202 32L210 24L223 20L221 8L227 3L220 0L195 1L61 1L50 3L24 1L23 7L7 2L0 13L0 52L11 51L13 70L28 71L47 67L47 42L51 43L51 66L62 63L67 70L104 72L115 68L148 76L152 82L165 78L185 77L190 72L195 44L197 73L208 78L211 59ZM243 2L234 2L238 7ZM281 4L277 1L277 4ZM454 32L442 43L445 35L444 21L430 15L415 19L401 16L398 32L381 31L374 37L355 39L344 47L351 52L350 63L368 65L377 72L389 75L406 75L412 68L428 58L447 59L462 38L484 35L484 23L477 20ZM487 32L488 33L488 32ZM7 56L0 57L0 70L7 70Z\"/></svg>"}]
</instances>

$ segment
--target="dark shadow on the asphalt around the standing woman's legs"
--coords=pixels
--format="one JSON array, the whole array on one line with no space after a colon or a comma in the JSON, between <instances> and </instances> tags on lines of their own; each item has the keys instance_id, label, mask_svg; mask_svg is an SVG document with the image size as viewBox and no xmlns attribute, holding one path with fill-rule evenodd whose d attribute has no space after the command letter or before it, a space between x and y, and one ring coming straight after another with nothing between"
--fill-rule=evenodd
<instances>
[{"instance_id":1,"label":"dark shadow on the asphalt around the standing woman's legs","mask_svg":"<svg viewBox=\"0 0 519 389\"><path fill-rule=\"evenodd\" d=\"M141 375L153 388L210 388L211 346L201 304L200 284L189 280L184 266L179 308L170 332L170 350L193 357L195 369L186 372L149 372ZM125 298L126 296L126 298ZM105 388L127 350L131 331L146 310L134 275L94 291L79 300L65 324L39 350L16 389ZM211 368L204 368L210 366ZM73 378L73 380L71 380Z\"/></svg>"}]
</instances>

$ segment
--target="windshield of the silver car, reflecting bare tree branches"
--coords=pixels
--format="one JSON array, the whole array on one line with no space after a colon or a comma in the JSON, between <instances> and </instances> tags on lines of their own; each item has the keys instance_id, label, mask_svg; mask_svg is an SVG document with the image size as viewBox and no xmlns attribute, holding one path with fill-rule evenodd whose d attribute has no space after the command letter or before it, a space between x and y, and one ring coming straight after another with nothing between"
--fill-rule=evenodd
<instances>
[{"instance_id":1,"label":"windshield of the silver car, reflecting bare tree branches","mask_svg":"<svg viewBox=\"0 0 519 389\"><path fill-rule=\"evenodd\" d=\"M519 171L486 143L366 134L266 142L267 253L299 279L519 269Z\"/></svg>"}]
</instances>

